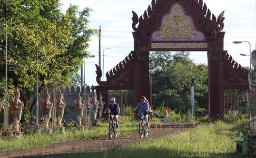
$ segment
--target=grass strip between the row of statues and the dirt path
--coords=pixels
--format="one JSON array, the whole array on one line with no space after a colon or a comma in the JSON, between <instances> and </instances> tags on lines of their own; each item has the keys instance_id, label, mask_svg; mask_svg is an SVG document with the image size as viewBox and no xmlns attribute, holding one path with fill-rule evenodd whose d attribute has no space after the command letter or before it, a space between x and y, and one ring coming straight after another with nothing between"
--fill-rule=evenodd
<instances>
[{"instance_id":1,"label":"grass strip between the row of statues and the dirt path","mask_svg":"<svg viewBox=\"0 0 256 158\"><path fill-rule=\"evenodd\" d=\"M137 131L137 122L134 121L119 121L119 135L126 135ZM41 147L54 143L83 141L88 139L97 139L106 137L108 134L109 123L100 123L99 127L94 129L86 129L84 131L77 130L73 127L67 130L65 134L53 132L53 134L33 134L25 135L20 140L0 140L0 152L16 150L16 149L29 149L33 147Z\"/></svg>"}]
</instances>

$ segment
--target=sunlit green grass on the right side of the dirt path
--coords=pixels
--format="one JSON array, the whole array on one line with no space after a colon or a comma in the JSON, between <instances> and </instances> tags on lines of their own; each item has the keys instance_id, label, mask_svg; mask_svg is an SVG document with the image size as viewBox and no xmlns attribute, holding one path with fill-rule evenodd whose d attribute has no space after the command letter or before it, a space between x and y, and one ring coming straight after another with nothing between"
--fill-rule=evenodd
<instances>
[{"instance_id":1,"label":"sunlit green grass on the right side of the dirt path","mask_svg":"<svg viewBox=\"0 0 256 158\"><path fill-rule=\"evenodd\" d=\"M223 122L216 122L213 126L202 124L192 130L136 143L119 151L86 153L77 157L238 157L235 154L236 141L242 139L239 126Z\"/></svg>"}]
</instances>

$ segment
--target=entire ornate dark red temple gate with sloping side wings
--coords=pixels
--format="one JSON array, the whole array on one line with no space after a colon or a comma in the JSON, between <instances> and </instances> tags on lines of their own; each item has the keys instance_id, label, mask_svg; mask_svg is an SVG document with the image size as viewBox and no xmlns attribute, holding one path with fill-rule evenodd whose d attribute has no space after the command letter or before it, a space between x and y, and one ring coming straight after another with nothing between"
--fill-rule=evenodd
<instances>
[{"instance_id":1,"label":"entire ornate dark red temple gate with sloping side wings","mask_svg":"<svg viewBox=\"0 0 256 158\"><path fill-rule=\"evenodd\" d=\"M109 90L134 90L134 102L144 95L152 100L149 77L150 51L207 51L209 116L224 115L224 90L248 89L248 72L223 50L225 32L222 12L218 18L202 0L153 0L140 18L132 17L134 51L101 81L96 65L96 92L105 101Z\"/></svg>"}]
</instances>

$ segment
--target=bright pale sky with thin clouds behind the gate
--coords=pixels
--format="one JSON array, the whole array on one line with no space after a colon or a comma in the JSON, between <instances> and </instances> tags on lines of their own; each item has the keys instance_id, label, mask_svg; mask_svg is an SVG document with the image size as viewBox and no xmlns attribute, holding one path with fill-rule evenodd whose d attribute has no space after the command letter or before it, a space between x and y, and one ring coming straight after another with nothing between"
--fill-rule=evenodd
<instances>
[{"instance_id":1,"label":"bright pale sky with thin clouds behind the gate","mask_svg":"<svg viewBox=\"0 0 256 158\"><path fill-rule=\"evenodd\" d=\"M251 49L255 50L255 2L256 0L204 0L216 17L225 11L224 50L228 51L234 60L242 66L250 65L249 56L240 56L241 53L249 54L249 44L233 44L233 41L249 41ZM62 0L62 4L63 13L66 12L70 4L77 5L80 10L85 7L93 9L89 26L90 28L99 28L101 25L101 52L103 53L105 48L111 48L105 50L105 74L133 51L132 11L139 16L142 15L147 6L151 4L151 0ZM97 85L95 73L95 64L99 63L99 38L97 36L92 37L88 51L95 57L89 58L85 62L85 82L87 85ZM195 63L207 64L206 52L191 52L190 58Z\"/></svg>"}]
</instances>

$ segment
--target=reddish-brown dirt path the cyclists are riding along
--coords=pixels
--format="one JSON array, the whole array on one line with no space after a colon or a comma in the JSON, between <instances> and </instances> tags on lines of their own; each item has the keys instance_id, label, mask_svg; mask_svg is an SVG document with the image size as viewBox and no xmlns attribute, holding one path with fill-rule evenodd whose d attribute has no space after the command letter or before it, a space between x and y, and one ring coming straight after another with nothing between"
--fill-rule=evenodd
<instances>
[{"instance_id":1,"label":"reddish-brown dirt path the cyclists are riding along","mask_svg":"<svg viewBox=\"0 0 256 158\"><path fill-rule=\"evenodd\" d=\"M193 127L192 124L187 123L166 123L162 126L154 126L147 139L161 138L168 134L174 134L188 130ZM147 139L140 139L138 133L130 135L120 135L116 139L97 139L85 140L77 142L66 142L61 144L52 144L44 147L34 149L15 150L9 152L1 152L0 157L23 157L36 155L52 155L65 153L86 153L105 150L117 150L122 146L129 146L136 142L143 142Z\"/></svg>"}]
</instances>

